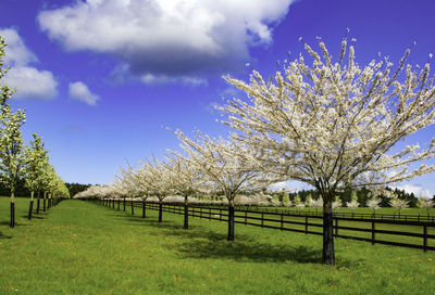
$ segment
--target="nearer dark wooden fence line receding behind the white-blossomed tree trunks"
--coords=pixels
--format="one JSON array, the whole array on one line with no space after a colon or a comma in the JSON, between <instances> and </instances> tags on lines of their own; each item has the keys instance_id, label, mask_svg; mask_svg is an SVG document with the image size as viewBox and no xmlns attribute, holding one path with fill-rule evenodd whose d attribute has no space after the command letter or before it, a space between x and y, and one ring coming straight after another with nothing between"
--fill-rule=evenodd
<instances>
[{"instance_id":1,"label":"nearer dark wooden fence line receding behind the white-blossomed tree trunks","mask_svg":"<svg viewBox=\"0 0 435 295\"><path fill-rule=\"evenodd\" d=\"M121 203L123 201L105 200L102 201L105 206L115 208L115 202L117 202L117 209L121 208ZM127 207L142 207L141 201L125 201ZM125 208L125 207L124 207ZM159 210L159 203L157 202L146 202L146 208ZM203 205L190 205L189 204L189 217L198 217L200 219L227 221L228 220L228 208L223 206L203 206ZM184 215L184 204L181 203L163 203L163 211ZM286 220L287 218L287 220ZM302 221L288 220L288 218L301 218ZM322 221L323 216L321 215L301 215L300 213L289 213L289 211L265 211L265 210L249 210L249 209L235 209L235 223L278 229L284 231L301 232L306 234L318 234L322 235L320 231L314 231L315 228L323 228L322 222L310 222L310 219ZM435 222L432 221L419 221L419 220L397 220L397 219L378 219L378 218L355 218L352 217L340 217L339 215L334 215L334 236L341 239L351 239L358 241L365 241L372 244L386 244L394 246L420 248L423 251L435 251L435 246L428 245L430 239L435 239L435 234L430 234L428 229L435 229ZM257 221L257 222L256 222ZM355 226L340 226L343 222L362 222L366 223L368 228L359 228ZM268 222L268 223L265 223ZM271 225L273 223L273 225ZM286 225L300 226L301 228L289 228ZM394 231L386 229L378 229L376 225L393 225L393 226L412 226L421 227L422 233L409 232L409 231ZM370 233L370 238L357 236L343 234L341 231L350 231L357 233ZM389 234L393 236L410 236L422 239L421 244L410 244L405 242L385 241L376 239L377 234Z\"/></svg>"}]
</instances>

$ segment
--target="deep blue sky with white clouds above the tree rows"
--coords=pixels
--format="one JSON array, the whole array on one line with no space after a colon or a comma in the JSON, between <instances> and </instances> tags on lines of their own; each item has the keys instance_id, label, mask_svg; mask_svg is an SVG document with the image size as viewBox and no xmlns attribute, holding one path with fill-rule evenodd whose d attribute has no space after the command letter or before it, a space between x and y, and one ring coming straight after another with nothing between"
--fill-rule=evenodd
<instances>
[{"instance_id":1,"label":"deep blue sky with white clouds above the tree rows","mask_svg":"<svg viewBox=\"0 0 435 295\"><path fill-rule=\"evenodd\" d=\"M176 149L164 127L225 134L213 105L240 93L223 74L269 77L316 36L336 56L346 28L361 65L378 52L396 62L409 47L423 64L434 11L431 0L1 0L0 35L26 141L44 137L64 181L107 183L125 161ZM435 194L433 180L400 185Z\"/></svg>"}]
</instances>

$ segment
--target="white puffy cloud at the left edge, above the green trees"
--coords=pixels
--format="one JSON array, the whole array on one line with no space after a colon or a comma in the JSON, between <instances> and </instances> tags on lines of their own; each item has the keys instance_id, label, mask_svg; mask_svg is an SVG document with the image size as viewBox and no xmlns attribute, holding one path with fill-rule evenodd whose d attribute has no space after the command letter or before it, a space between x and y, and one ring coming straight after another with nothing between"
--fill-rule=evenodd
<instances>
[{"instance_id":1,"label":"white puffy cloud at the left edge, above the green trees","mask_svg":"<svg viewBox=\"0 0 435 295\"><path fill-rule=\"evenodd\" d=\"M25 46L18 33L13 28L0 28L8 47L5 49L5 62L11 69L4 78L4 82L12 89L16 89L14 99L52 99L58 94L58 82L53 74L48 70L39 70L29 64L38 62L37 56Z\"/></svg>"}]
</instances>

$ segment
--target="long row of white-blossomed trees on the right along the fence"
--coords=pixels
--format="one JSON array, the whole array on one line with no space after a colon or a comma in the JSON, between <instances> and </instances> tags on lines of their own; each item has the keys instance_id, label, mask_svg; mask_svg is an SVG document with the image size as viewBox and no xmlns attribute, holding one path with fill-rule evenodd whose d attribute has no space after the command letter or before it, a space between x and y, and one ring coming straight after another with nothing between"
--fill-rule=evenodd
<instances>
[{"instance_id":1,"label":"long row of white-blossomed trees on the right along the fence","mask_svg":"<svg viewBox=\"0 0 435 295\"><path fill-rule=\"evenodd\" d=\"M187 206L192 192L223 193L233 240L237 193L302 181L322 195L323 262L334 265L332 213L340 191L368 187L376 196L389 193L384 190L389 183L435 170L427 165L435 138L424 146L402 142L435 123L435 87L430 62L415 68L407 64L410 50L396 66L385 57L360 67L346 39L335 62L324 42L319 44L319 52L306 44L308 56L285 63L269 80L256 70L249 82L225 76L247 93L219 107L234 130L227 140L200 132L190 139L175 131L183 154L170 152L163 162L126 168L102 194L163 201L178 193ZM92 190L88 193L97 194Z\"/></svg>"}]
</instances>

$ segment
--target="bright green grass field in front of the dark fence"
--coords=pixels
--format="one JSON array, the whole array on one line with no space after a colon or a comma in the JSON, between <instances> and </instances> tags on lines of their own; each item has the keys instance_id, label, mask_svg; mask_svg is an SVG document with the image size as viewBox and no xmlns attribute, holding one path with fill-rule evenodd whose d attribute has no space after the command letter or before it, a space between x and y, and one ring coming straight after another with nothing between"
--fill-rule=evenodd
<instances>
[{"instance_id":1,"label":"bright green grass field in front of the dark fence","mask_svg":"<svg viewBox=\"0 0 435 295\"><path fill-rule=\"evenodd\" d=\"M35 220L0 197L0 294L431 294L435 253L336 239L335 267L320 264L322 238L157 211L147 218L64 201ZM139 210L136 210L139 215Z\"/></svg>"}]
</instances>

